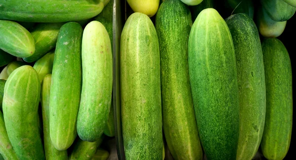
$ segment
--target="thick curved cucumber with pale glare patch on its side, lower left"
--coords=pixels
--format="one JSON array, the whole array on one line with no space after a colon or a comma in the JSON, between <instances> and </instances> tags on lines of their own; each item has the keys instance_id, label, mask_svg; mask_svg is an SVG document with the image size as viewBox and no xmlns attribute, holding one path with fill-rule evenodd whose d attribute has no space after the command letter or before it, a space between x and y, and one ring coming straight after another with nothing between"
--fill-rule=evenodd
<instances>
[{"instance_id":1,"label":"thick curved cucumber with pale glare patch on its side, lower left","mask_svg":"<svg viewBox=\"0 0 296 160\"><path fill-rule=\"evenodd\" d=\"M3 115L12 147L20 160L45 160L38 128L40 83L30 65L15 69L4 87Z\"/></svg>"}]
</instances>

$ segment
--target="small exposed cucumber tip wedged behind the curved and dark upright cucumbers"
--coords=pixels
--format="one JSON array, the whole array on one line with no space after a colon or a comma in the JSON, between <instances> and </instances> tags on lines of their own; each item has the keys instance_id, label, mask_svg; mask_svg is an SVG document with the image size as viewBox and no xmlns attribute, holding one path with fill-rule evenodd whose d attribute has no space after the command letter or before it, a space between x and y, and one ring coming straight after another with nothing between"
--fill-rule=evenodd
<instances>
[{"instance_id":1,"label":"small exposed cucumber tip wedged behind the curved and dark upright cucumbers","mask_svg":"<svg viewBox=\"0 0 296 160\"><path fill-rule=\"evenodd\" d=\"M53 60L54 50L51 50L34 64L33 68L39 75L40 84L42 84L44 76L52 72Z\"/></svg>"}]
</instances>

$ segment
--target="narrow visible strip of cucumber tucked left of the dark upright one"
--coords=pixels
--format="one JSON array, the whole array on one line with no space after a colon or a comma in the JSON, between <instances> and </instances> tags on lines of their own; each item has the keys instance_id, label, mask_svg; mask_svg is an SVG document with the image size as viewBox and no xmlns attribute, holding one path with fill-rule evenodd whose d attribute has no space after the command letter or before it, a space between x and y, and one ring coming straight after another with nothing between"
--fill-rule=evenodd
<instances>
[{"instance_id":1,"label":"narrow visible strip of cucumber tucked left of the dark upright one","mask_svg":"<svg viewBox=\"0 0 296 160\"><path fill-rule=\"evenodd\" d=\"M49 99L50 99L51 74L44 77L41 85L41 109L43 120L43 141L46 160L67 160L67 151L54 148L49 133Z\"/></svg>"}]
</instances>

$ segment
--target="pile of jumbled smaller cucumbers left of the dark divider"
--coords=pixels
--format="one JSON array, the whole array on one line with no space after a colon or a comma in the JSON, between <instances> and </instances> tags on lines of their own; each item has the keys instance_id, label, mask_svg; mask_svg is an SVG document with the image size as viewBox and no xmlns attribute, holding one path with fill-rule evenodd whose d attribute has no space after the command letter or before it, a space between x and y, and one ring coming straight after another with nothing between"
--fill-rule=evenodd
<instances>
[{"instance_id":1,"label":"pile of jumbled smaller cucumbers left of the dark divider","mask_svg":"<svg viewBox=\"0 0 296 160\"><path fill-rule=\"evenodd\" d=\"M77 9L77 6L79 6ZM0 2L0 158L107 160L113 0Z\"/></svg>"}]
</instances>

